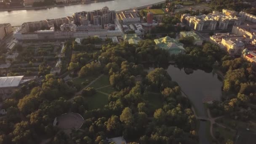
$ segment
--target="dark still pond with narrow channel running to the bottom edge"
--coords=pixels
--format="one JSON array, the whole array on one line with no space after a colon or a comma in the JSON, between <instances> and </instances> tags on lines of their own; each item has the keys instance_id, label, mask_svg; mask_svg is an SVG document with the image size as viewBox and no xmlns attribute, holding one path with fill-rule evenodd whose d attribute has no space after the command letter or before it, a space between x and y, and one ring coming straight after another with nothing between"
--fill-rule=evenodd
<instances>
[{"instance_id":1,"label":"dark still pond with narrow channel running to the bottom edge","mask_svg":"<svg viewBox=\"0 0 256 144\"><path fill-rule=\"evenodd\" d=\"M149 70L153 70L150 68ZM195 107L198 116L207 117L203 99L211 97L215 100L221 99L222 82L218 79L217 74L213 72L205 72L203 70L194 70L191 74L186 74L184 69L179 69L173 65L169 65L166 69L173 81L176 81L181 90L188 96ZM200 121L199 143L210 144L207 139L206 121Z\"/></svg>"}]
</instances>

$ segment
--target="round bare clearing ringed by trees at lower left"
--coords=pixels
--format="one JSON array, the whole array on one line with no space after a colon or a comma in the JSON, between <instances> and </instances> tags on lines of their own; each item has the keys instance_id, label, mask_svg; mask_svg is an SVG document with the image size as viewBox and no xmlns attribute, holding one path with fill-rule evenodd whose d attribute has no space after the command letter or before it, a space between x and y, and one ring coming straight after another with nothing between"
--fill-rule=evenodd
<instances>
[{"instance_id":1,"label":"round bare clearing ringed by trees at lower left","mask_svg":"<svg viewBox=\"0 0 256 144\"><path fill-rule=\"evenodd\" d=\"M57 117L57 127L61 129L72 129L76 130L81 128L84 119L81 115L77 113L66 113Z\"/></svg>"}]
</instances>

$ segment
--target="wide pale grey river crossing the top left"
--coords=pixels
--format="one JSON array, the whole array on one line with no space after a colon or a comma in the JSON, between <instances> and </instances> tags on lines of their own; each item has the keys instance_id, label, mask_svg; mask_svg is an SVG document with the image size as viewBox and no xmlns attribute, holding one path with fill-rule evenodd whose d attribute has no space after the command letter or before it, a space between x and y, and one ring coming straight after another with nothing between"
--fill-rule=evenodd
<instances>
[{"instance_id":1,"label":"wide pale grey river crossing the top left","mask_svg":"<svg viewBox=\"0 0 256 144\"><path fill-rule=\"evenodd\" d=\"M101 9L104 6L108 6L109 10L121 11L162 1L164 0L113 0L99 3L42 8L37 10L0 11L0 24L11 23L12 26L18 26L24 22L61 18L71 16L75 12Z\"/></svg>"}]
</instances>

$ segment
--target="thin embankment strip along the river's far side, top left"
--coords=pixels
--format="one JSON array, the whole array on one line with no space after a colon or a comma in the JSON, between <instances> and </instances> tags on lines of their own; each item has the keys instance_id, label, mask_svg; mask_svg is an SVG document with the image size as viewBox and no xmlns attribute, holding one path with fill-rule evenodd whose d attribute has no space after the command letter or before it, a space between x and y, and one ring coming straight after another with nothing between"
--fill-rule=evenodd
<instances>
[{"instance_id":1,"label":"thin embankment strip along the river's far side, top left","mask_svg":"<svg viewBox=\"0 0 256 144\"><path fill-rule=\"evenodd\" d=\"M3 9L0 9L0 11L39 10L39 9L45 9L45 8L64 7L69 5L84 5L89 3L100 3L100 2L107 2L107 1L114 1L114 0L92 0L92 1L86 1L86 2L80 2L80 3L64 3L64 4L45 5L40 7L27 7L27 8L26 7L3 8Z\"/></svg>"}]
</instances>

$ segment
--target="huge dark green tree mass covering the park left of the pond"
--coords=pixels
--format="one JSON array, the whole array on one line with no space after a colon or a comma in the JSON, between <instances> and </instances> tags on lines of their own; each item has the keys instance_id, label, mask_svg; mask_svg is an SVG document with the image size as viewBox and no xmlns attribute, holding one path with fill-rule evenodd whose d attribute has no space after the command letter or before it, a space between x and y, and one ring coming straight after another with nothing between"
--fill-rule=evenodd
<instances>
[{"instance_id":1,"label":"huge dark green tree mass covering the park left of the pond","mask_svg":"<svg viewBox=\"0 0 256 144\"><path fill-rule=\"evenodd\" d=\"M45 136L51 137L53 144L103 144L107 137L124 136L141 144L198 143L195 115L177 83L163 68L148 74L144 71L143 63L167 63L171 59L152 40L142 40L137 45L103 45L101 55L91 63L81 61L90 61L88 53L71 56L71 50L72 43L66 43L64 53L72 61L69 69L78 70L84 65L78 72L80 77L109 75L115 92L108 96L105 107L88 109L87 100L96 93L94 88L85 88L81 96L68 100L75 94L72 82L46 75L42 85L28 85L31 91L22 88L21 91L28 91L24 97L17 91L13 99L4 102L8 114L0 121L0 141L32 144L39 143L39 136ZM159 93L155 95L162 101L159 109L150 107L150 93ZM70 136L56 133L58 130L52 126L54 118L65 112L77 112L85 118L81 129L72 131Z\"/></svg>"}]
</instances>

